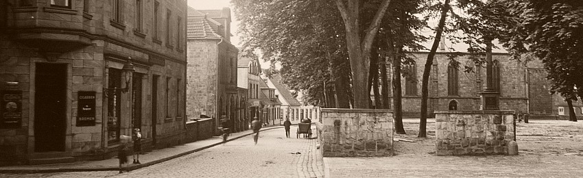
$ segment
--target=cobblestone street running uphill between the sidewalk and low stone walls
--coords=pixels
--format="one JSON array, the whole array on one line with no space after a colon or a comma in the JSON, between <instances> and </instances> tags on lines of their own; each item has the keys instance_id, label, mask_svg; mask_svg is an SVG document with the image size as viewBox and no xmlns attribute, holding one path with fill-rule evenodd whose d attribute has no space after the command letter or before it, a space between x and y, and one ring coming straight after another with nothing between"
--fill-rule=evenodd
<instances>
[{"instance_id":1,"label":"cobblestone street running uphill between the sidewalk and low stone walls","mask_svg":"<svg viewBox=\"0 0 583 178\"><path fill-rule=\"evenodd\" d=\"M200 152L118 175L117 171L0 174L0 177L323 177L316 139L290 138L283 128L261 131Z\"/></svg>"}]
</instances>

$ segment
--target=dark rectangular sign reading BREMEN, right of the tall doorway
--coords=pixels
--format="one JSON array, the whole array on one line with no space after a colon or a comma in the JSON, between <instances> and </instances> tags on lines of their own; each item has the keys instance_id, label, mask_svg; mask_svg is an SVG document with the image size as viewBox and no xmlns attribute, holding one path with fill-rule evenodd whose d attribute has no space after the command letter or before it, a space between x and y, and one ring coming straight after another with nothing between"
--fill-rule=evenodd
<instances>
[{"instance_id":1,"label":"dark rectangular sign reading BREMEN, right of the tall doorway","mask_svg":"<svg viewBox=\"0 0 583 178\"><path fill-rule=\"evenodd\" d=\"M95 92L78 92L77 126L95 126Z\"/></svg>"}]
</instances>

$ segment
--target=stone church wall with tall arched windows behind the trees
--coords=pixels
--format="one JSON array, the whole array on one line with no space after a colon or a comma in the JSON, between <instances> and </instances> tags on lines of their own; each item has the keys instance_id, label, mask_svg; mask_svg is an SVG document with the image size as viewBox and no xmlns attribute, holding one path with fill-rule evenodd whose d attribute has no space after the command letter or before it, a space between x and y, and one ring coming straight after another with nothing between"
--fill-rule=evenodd
<instances>
[{"instance_id":1,"label":"stone church wall with tall arched windows behind the trees","mask_svg":"<svg viewBox=\"0 0 583 178\"><path fill-rule=\"evenodd\" d=\"M414 61L416 64L416 93L407 94L405 91L406 79L401 77L401 84L403 88L403 116L408 118L418 118L421 103L421 81L423 78L423 70L425 60L427 59L427 52L413 52ZM451 95L448 92L448 53L438 52L433 60L431 67L431 74L429 75L429 101L427 114L433 116L436 110L448 110L449 103L455 101L457 103L457 110L480 110L480 96L479 92L486 88L486 66L476 66L469 55L462 55L455 60L460 62L460 69L457 71L457 88L458 92ZM526 80L527 68L540 66L540 61L534 60L527 64L510 60L508 53L493 53L492 60L498 62L500 67L500 108L503 110L515 110L517 113L527 113L528 103L545 103L546 101L538 101L537 97L529 97L528 87L532 83ZM465 73L464 66L474 68L474 72ZM390 70L390 69L389 69ZM391 72L388 72L388 79L392 79ZM391 82L391 81L389 81ZM537 81L539 82L539 81ZM540 81L542 82L542 81ZM392 88L389 88L390 99L392 100ZM392 104L392 101L390 102ZM548 105L549 103L547 103ZM392 108L393 106L391 106Z\"/></svg>"}]
</instances>

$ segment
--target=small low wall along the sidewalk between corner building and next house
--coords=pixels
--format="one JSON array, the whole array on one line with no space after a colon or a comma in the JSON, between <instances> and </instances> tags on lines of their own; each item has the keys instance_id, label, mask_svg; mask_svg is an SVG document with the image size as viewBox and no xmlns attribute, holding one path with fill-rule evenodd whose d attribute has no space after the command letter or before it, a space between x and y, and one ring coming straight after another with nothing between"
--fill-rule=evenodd
<instances>
[{"instance_id":1,"label":"small low wall along the sidewalk between corner building and next house","mask_svg":"<svg viewBox=\"0 0 583 178\"><path fill-rule=\"evenodd\" d=\"M199 120L187 122L187 133L185 142L194 142L213 137L214 123L213 118L202 118Z\"/></svg>"}]
</instances>

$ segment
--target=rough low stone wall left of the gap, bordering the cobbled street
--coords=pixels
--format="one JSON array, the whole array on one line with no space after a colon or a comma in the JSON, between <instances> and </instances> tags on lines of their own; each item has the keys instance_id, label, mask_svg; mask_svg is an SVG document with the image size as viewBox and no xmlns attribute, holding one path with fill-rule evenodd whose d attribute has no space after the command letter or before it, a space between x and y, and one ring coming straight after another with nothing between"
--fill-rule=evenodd
<instances>
[{"instance_id":1,"label":"rough low stone wall left of the gap, bordering the cobbled street","mask_svg":"<svg viewBox=\"0 0 583 178\"><path fill-rule=\"evenodd\" d=\"M391 110L322 109L318 139L324 157L392 154Z\"/></svg>"}]
</instances>

